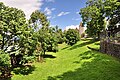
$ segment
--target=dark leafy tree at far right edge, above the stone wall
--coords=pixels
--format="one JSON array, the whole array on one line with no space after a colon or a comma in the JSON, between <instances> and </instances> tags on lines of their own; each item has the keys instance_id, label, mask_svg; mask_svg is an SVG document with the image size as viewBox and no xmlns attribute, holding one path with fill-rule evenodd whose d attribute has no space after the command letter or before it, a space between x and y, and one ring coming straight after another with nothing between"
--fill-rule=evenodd
<instances>
[{"instance_id":1,"label":"dark leafy tree at far right edge, above the stone wall","mask_svg":"<svg viewBox=\"0 0 120 80\"><path fill-rule=\"evenodd\" d=\"M120 31L120 26L116 26L117 23L120 24L120 0L106 0L104 5L109 21L108 30L111 32L111 36L115 36L115 33Z\"/></svg>"}]
</instances>

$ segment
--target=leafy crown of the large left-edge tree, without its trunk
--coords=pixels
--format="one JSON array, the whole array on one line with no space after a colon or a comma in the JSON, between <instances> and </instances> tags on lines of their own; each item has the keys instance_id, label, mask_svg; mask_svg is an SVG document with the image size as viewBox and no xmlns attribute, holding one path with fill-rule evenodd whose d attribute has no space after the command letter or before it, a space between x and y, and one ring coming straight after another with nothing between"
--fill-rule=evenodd
<instances>
[{"instance_id":1,"label":"leafy crown of the large left-edge tree, without its trunk","mask_svg":"<svg viewBox=\"0 0 120 80\"><path fill-rule=\"evenodd\" d=\"M2 4L2 3L0 3ZM19 36L26 30L23 11L3 5L0 10L1 49L6 51L11 45L17 45Z\"/></svg>"}]
</instances>

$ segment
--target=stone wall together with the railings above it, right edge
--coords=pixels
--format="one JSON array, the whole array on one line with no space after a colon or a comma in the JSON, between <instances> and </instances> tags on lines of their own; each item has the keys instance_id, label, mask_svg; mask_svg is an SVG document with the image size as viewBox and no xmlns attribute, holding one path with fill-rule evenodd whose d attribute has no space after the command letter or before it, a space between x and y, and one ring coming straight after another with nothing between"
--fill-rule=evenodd
<instances>
[{"instance_id":1,"label":"stone wall together with the railings above it, right edge","mask_svg":"<svg viewBox=\"0 0 120 80\"><path fill-rule=\"evenodd\" d=\"M114 37L109 31L104 31L100 38L100 51L120 58L120 31Z\"/></svg>"}]
</instances>

